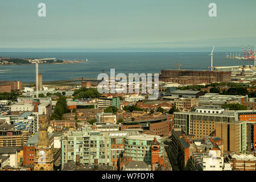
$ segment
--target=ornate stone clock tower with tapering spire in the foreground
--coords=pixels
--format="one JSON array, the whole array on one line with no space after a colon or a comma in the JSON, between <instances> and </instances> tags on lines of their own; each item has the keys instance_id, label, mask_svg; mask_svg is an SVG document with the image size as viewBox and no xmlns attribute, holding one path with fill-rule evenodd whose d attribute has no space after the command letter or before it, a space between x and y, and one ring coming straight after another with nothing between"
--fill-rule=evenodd
<instances>
[{"instance_id":1,"label":"ornate stone clock tower with tapering spire in the foreground","mask_svg":"<svg viewBox=\"0 0 256 182\"><path fill-rule=\"evenodd\" d=\"M43 117L35 148L34 171L53 171L53 154L47 128L46 119Z\"/></svg>"}]
</instances>

